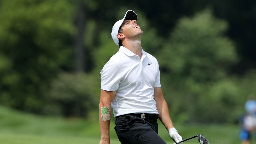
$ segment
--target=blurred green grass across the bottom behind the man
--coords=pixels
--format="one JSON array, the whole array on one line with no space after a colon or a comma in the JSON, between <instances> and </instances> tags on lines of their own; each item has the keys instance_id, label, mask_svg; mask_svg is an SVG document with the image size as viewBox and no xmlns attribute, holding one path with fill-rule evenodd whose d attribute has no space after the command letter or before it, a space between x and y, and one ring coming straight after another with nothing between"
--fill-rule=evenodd
<instances>
[{"instance_id":1,"label":"blurred green grass across the bottom behind the man","mask_svg":"<svg viewBox=\"0 0 256 144\"><path fill-rule=\"evenodd\" d=\"M98 114L92 113L90 120L37 116L0 106L1 144L97 144L100 141ZM174 122L175 123L175 122ZM173 143L161 122L159 135ZM175 124L183 139L198 133L210 144L240 144L237 125L183 125ZM114 120L110 124L111 144L120 144L114 131ZM191 139L184 144L199 144Z\"/></svg>"}]
</instances>

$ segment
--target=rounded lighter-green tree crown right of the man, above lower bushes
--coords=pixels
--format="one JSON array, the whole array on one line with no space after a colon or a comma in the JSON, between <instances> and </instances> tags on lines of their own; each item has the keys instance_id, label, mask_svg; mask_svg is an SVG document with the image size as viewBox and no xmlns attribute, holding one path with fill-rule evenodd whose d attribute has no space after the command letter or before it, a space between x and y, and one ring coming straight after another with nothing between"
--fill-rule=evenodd
<instances>
[{"instance_id":1,"label":"rounded lighter-green tree crown right of the man, above lower bushes","mask_svg":"<svg viewBox=\"0 0 256 144\"><path fill-rule=\"evenodd\" d=\"M223 35L226 30L227 23L209 10L180 19L161 51L160 67L199 83L225 77L237 61L234 44Z\"/></svg>"}]
</instances>

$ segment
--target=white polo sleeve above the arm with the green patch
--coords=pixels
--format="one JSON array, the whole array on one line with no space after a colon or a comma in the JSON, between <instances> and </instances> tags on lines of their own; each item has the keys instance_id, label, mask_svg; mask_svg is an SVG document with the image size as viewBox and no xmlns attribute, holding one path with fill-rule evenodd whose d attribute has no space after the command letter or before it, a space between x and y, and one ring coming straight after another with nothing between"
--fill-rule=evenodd
<instances>
[{"instance_id":1,"label":"white polo sleeve above the arm with the green patch","mask_svg":"<svg viewBox=\"0 0 256 144\"><path fill-rule=\"evenodd\" d=\"M100 72L101 89L115 91L121 82L120 68L114 61L108 61Z\"/></svg>"}]
</instances>

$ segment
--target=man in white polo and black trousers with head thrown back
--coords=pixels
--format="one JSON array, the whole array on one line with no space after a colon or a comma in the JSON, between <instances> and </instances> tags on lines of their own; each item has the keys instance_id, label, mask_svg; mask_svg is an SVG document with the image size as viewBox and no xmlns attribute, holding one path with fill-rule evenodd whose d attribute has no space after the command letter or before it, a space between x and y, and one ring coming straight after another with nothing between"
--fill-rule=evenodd
<instances>
[{"instance_id":1,"label":"man in white polo and black trousers with head thrown back","mask_svg":"<svg viewBox=\"0 0 256 144\"><path fill-rule=\"evenodd\" d=\"M111 107L122 144L166 144L158 135L158 118L176 143L182 141L162 93L158 62L141 48L142 33L132 10L112 28L120 49L101 71L100 144L110 144Z\"/></svg>"}]
</instances>

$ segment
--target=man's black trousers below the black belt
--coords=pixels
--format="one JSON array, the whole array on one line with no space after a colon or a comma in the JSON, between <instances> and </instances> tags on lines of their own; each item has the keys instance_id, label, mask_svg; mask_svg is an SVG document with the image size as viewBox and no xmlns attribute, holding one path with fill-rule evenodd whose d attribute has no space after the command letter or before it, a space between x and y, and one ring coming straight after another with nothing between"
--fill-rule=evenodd
<instances>
[{"instance_id":1,"label":"man's black trousers below the black belt","mask_svg":"<svg viewBox=\"0 0 256 144\"><path fill-rule=\"evenodd\" d=\"M115 131L122 144L166 144L158 135L157 120L146 121L132 115L116 118Z\"/></svg>"}]
</instances>

